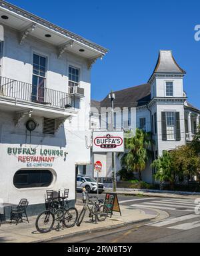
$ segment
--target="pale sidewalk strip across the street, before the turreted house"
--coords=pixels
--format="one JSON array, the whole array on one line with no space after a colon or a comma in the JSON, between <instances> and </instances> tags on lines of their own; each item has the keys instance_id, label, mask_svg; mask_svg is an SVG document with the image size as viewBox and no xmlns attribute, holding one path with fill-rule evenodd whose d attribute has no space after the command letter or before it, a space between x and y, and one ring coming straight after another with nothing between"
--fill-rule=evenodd
<instances>
[{"instance_id":1,"label":"pale sidewalk strip across the street, before the turreted house","mask_svg":"<svg viewBox=\"0 0 200 256\"><path fill-rule=\"evenodd\" d=\"M106 188L106 192L112 192L113 189ZM145 197L169 197L182 199L199 199L200 193L175 192L175 191L149 191L141 189L117 189L119 195L141 195Z\"/></svg>"}]
</instances>

